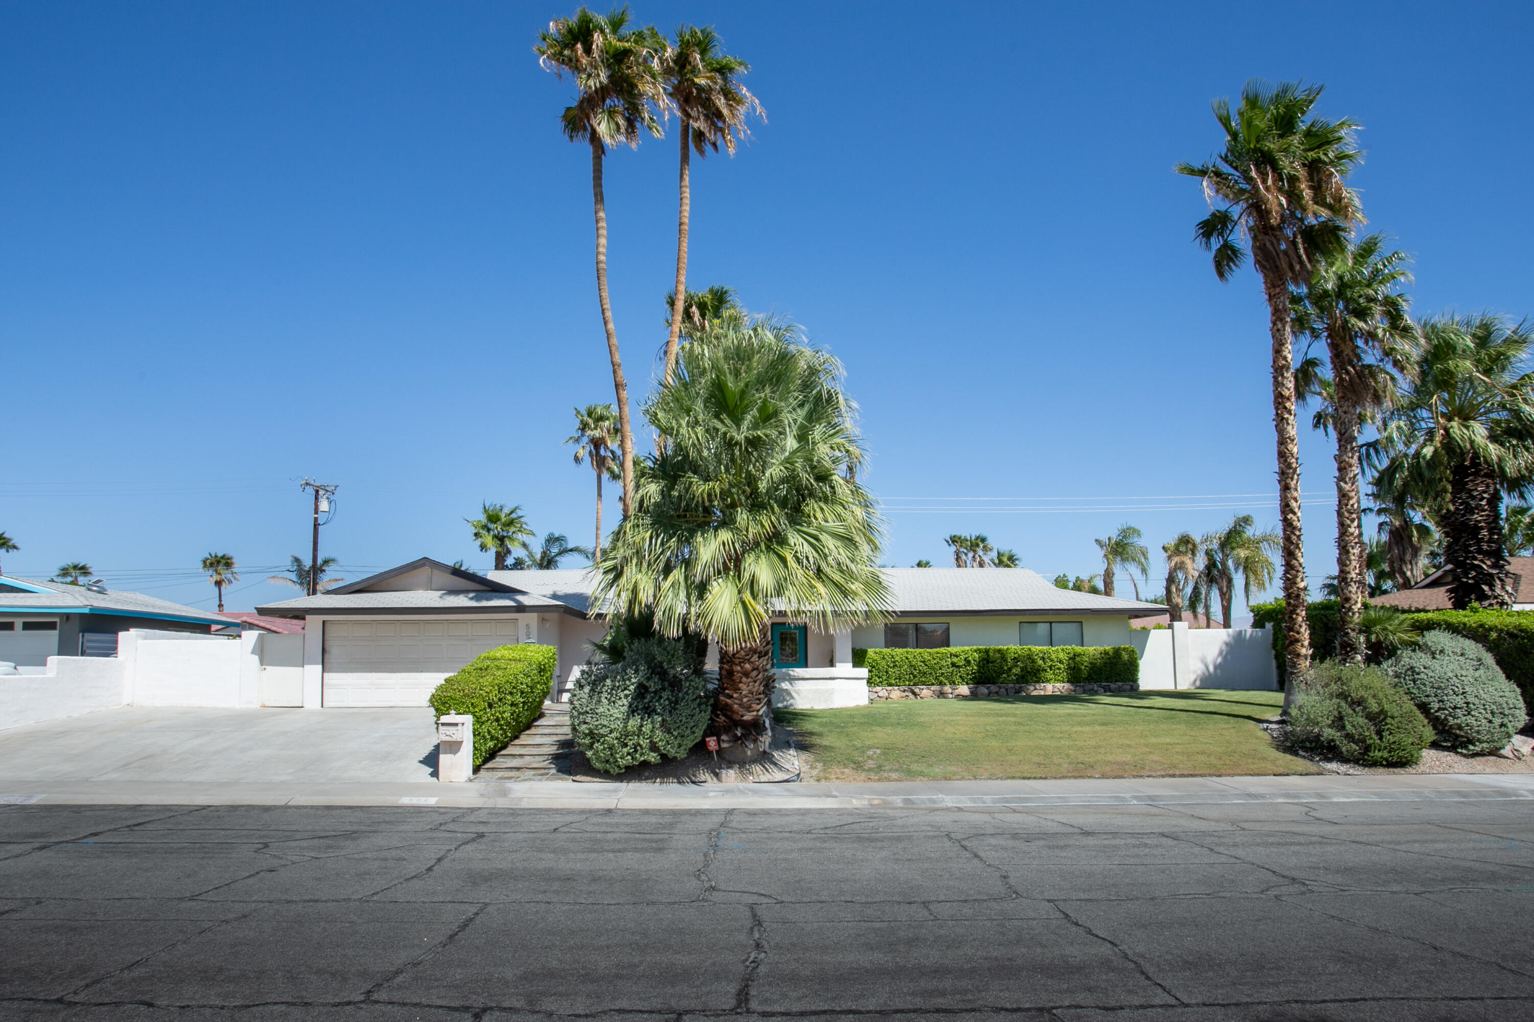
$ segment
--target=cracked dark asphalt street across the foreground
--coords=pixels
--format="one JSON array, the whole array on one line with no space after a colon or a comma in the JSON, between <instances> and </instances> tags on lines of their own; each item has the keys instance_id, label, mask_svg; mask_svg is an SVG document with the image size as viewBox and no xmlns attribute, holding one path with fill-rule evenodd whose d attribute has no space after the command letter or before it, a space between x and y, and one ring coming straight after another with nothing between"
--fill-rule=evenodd
<instances>
[{"instance_id":1,"label":"cracked dark asphalt street across the foreground","mask_svg":"<svg viewBox=\"0 0 1534 1022\"><path fill-rule=\"evenodd\" d=\"M1534 803L0 807L3 1019L1526 1017Z\"/></svg>"}]
</instances>

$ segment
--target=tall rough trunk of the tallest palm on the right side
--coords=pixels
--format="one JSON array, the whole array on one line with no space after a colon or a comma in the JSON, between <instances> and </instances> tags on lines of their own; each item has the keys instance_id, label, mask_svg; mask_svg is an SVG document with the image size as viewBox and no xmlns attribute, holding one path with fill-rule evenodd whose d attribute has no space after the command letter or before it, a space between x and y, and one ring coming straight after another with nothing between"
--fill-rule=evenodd
<instances>
[{"instance_id":1,"label":"tall rough trunk of the tallest palm on the right side","mask_svg":"<svg viewBox=\"0 0 1534 1022\"><path fill-rule=\"evenodd\" d=\"M1295 428L1295 345L1289 325L1289 285L1264 270L1269 333L1273 338L1273 430L1278 434L1278 517L1284 534L1284 712L1295 683L1310 669L1310 620L1305 617L1305 545L1299 519L1299 433Z\"/></svg>"}]
</instances>

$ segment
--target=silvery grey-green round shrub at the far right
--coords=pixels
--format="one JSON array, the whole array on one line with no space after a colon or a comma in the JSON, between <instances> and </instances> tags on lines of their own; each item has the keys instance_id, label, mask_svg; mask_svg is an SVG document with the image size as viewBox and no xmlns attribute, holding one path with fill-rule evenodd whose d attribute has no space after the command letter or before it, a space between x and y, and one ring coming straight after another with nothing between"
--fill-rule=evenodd
<instances>
[{"instance_id":1,"label":"silvery grey-green round shrub at the far right","mask_svg":"<svg viewBox=\"0 0 1534 1022\"><path fill-rule=\"evenodd\" d=\"M1528 720L1517 686L1491 654L1462 635L1427 632L1385 671L1456 752L1496 752Z\"/></svg>"}]
</instances>

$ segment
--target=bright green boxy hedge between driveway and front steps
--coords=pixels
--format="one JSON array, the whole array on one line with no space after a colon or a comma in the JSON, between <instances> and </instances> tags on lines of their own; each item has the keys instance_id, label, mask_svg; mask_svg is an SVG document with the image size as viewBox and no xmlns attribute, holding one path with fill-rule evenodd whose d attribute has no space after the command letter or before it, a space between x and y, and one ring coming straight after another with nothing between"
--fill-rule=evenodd
<instances>
[{"instance_id":1,"label":"bright green boxy hedge between driveway and front steps","mask_svg":"<svg viewBox=\"0 0 1534 1022\"><path fill-rule=\"evenodd\" d=\"M426 701L437 717L474 715L474 766L480 766L543 714L557 657L554 646L499 646L446 678Z\"/></svg>"}]
</instances>

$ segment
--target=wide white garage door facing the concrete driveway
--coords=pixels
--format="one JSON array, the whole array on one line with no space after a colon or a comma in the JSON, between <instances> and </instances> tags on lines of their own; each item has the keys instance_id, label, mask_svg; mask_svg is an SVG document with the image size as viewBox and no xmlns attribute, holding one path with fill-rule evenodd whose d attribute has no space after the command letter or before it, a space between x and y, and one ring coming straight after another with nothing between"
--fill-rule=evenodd
<instances>
[{"instance_id":1,"label":"wide white garage door facing the concrete driveway","mask_svg":"<svg viewBox=\"0 0 1534 1022\"><path fill-rule=\"evenodd\" d=\"M445 677L517 641L517 618L325 621L325 706L425 706Z\"/></svg>"}]
</instances>

